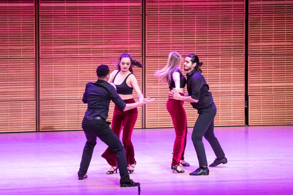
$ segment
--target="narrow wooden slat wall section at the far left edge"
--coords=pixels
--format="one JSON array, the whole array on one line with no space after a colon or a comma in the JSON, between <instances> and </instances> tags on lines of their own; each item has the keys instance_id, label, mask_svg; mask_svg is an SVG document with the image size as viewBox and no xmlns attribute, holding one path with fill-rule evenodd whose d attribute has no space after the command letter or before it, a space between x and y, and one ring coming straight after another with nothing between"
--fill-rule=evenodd
<instances>
[{"instance_id":1,"label":"narrow wooden slat wall section at the far left edge","mask_svg":"<svg viewBox=\"0 0 293 195\"><path fill-rule=\"evenodd\" d=\"M36 129L34 0L0 1L0 132Z\"/></svg>"}]
</instances>

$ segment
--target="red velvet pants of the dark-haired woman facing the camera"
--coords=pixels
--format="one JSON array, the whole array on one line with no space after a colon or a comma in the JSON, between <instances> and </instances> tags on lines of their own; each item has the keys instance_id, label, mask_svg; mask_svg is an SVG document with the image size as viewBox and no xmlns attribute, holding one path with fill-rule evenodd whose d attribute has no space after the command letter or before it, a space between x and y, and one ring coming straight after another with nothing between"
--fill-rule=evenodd
<instances>
[{"instance_id":1,"label":"red velvet pants of the dark-haired woman facing the camera","mask_svg":"<svg viewBox=\"0 0 293 195\"><path fill-rule=\"evenodd\" d=\"M125 99L125 103L135 103L134 99ZM126 112L120 110L117 106L114 107L114 113L112 118L112 131L120 137L121 130L123 128L122 143L125 147L126 160L128 165L135 163L134 149L131 142L131 135L137 120L138 112L137 108L127 110ZM103 158L109 163L109 165L117 166L117 158L113 151L108 147L102 155Z\"/></svg>"}]
</instances>

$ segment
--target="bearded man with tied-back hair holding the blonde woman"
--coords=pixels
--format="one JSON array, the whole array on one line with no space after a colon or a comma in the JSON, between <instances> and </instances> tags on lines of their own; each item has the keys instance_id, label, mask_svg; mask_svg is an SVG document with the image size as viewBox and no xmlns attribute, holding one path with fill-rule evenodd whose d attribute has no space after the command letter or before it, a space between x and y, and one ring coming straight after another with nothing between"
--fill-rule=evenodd
<instances>
[{"instance_id":1,"label":"bearded man with tied-back hair holding the blonde woman","mask_svg":"<svg viewBox=\"0 0 293 195\"><path fill-rule=\"evenodd\" d=\"M169 98L190 102L199 114L191 136L197 154L199 168L190 173L189 175L191 176L209 175L203 137L209 141L216 155L216 159L209 166L215 167L228 162L218 139L214 136L214 117L216 116L217 108L209 92L209 85L201 74L202 70L200 66L202 64L196 55L189 54L184 62L184 70L188 72L186 75L188 96L181 96L178 91L170 91L168 93Z\"/></svg>"}]
</instances>

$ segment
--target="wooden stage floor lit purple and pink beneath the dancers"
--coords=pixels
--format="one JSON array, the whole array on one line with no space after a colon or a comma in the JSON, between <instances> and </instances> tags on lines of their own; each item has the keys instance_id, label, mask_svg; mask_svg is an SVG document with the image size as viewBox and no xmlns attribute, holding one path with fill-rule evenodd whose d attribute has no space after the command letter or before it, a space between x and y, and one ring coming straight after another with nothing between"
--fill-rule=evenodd
<instances>
[{"instance_id":1,"label":"wooden stage floor lit purple and pink beneath the dancers","mask_svg":"<svg viewBox=\"0 0 293 195\"><path fill-rule=\"evenodd\" d=\"M191 167L172 174L175 132L135 129L132 143L137 165L134 181L141 195L293 195L293 126L215 127L228 163L209 168L209 176L189 176L198 168L188 128L185 159ZM137 195L120 188L119 174L101 157L98 140L88 178L78 180L84 148L83 131L0 134L0 195ZM204 140L208 163L215 156Z\"/></svg>"}]
</instances>

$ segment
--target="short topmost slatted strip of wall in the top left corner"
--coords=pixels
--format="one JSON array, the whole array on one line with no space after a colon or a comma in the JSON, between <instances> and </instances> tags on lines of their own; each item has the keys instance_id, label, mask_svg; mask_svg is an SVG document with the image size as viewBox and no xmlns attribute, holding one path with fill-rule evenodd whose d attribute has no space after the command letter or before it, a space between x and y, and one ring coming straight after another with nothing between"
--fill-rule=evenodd
<instances>
[{"instance_id":1,"label":"short topmost slatted strip of wall in the top left corner","mask_svg":"<svg viewBox=\"0 0 293 195\"><path fill-rule=\"evenodd\" d=\"M35 15L34 0L1 0L0 15L3 16L33 16Z\"/></svg>"}]
</instances>

